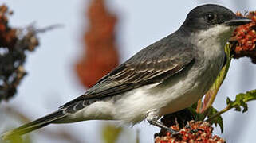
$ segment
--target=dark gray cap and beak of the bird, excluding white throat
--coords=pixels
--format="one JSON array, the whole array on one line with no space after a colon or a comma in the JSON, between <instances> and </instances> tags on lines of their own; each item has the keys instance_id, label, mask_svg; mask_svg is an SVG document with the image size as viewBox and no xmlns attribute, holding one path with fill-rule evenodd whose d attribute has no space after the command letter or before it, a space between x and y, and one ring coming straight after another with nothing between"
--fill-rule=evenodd
<instances>
[{"instance_id":1,"label":"dark gray cap and beak of the bird, excluding white throat","mask_svg":"<svg viewBox=\"0 0 256 143\"><path fill-rule=\"evenodd\" d=\"M181 29L196 31L215 25L238 26L247 23L250 23L249 19L236 16L226 7L207 4L191 10Z\"/></svg>"}]
</instances>

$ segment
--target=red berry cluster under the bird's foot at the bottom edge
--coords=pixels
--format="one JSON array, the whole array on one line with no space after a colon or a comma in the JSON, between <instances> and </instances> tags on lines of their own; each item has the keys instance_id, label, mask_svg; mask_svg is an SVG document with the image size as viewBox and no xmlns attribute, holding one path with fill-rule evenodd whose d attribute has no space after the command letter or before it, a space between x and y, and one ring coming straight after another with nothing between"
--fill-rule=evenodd
<instances>
[{"instance_id":1,"label":"red berry cluster under the bird's foot at the bottom edge","mask_svg":"<svg viewBox=\"0 0 256 143\"><path fill-rule=\"evenodd\" d=\"M171 136L166 132L163 136L155 137L155 143L224 143L223 138L212 136L213 128L207 122L188 122L190 127L180 129L178 135ZM171 129L179 130L179 125L171 126Z\"/></svg>"}]
</instances>

